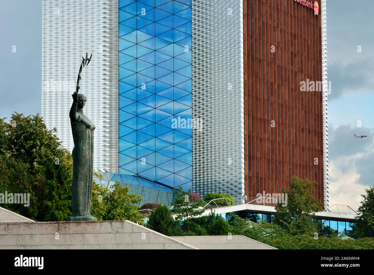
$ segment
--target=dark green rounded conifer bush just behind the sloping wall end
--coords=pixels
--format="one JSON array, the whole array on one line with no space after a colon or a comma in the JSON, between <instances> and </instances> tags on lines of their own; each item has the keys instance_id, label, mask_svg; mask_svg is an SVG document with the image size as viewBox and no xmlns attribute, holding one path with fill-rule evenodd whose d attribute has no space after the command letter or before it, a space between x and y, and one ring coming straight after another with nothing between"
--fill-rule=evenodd
<instances>
[{"instance_id":1,"label":"dark green rounded conifer bush just behind the sloping wall end","mask_svg":"<svg viewBox=\"0 0 374 275\"><path fill-rule=\"evenodd\" d=\"M169 208L162 204L159 204L157 209L149 215L145 226L167 236L183 235L179 222L173 219Z\"/></svg>"}]
</instances>

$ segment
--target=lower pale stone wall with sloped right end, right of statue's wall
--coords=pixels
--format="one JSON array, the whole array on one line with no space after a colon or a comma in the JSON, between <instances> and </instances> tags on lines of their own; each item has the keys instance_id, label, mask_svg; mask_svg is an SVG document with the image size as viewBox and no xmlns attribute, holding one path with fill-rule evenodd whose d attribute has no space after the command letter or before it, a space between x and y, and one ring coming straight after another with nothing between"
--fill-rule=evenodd
<instances>
[{"instance_id":1,"label":"lower pale stone wall with sloped right end, right of statue's wall","mask_svg":"<svg viewBox=\"0 0 374 275\"><path fill-rule=\"evenodd\" d=\"M199 249L277 249L246 236L183 236L172 238Z\"/></svg>"}]
</instances>

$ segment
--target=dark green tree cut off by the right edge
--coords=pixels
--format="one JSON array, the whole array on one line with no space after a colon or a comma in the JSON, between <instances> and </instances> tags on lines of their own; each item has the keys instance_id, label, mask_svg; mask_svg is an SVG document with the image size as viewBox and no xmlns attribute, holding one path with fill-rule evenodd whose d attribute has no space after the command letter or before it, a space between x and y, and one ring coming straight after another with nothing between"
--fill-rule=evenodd
<instances>
[{"instance_id":1,"label":"dark green tree cut off by the right edge","mask_svg":"<svg viewBox=\"0 0 374 275\"><path fill-rule=\"evenodd\" d=\"M358 208L358 215L352 228L357 238L374 237L374 186L365 189L364 201Z\"/></svg>"}]
</instances>

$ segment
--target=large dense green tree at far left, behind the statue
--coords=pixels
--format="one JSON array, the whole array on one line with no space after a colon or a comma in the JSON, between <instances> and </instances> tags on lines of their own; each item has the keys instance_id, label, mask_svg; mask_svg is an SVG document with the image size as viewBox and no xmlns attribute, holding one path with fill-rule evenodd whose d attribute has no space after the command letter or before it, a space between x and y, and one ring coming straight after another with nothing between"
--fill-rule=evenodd
<instances>
[{"instance_id":1,"label":"large dense green tree at far left, behind the statue","mask_svg":"<svg viewBox=\"0 0 374 275\"><path fill-rule=\"evenodd\" d=\"M66 220L71 215L73 162L55 132L39 114L14 113L10 123L0 119L0 192L30 193L31 201L29 207L4 207L37 221Z\"/></svg>"}]
</instances>

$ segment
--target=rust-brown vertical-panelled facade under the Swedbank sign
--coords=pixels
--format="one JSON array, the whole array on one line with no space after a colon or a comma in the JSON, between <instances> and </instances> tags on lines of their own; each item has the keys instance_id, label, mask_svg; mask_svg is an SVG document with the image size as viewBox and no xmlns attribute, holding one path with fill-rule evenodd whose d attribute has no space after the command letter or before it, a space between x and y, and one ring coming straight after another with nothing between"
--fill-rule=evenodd
<instances>
[{"instance_id":1,"label":"rust-brown vertical-panelled facade under the Swedbank sign","mask_svg":"<svg viewBox=\"0 0 374 275\"><path fill-rule=\"evenodd\" d=\"M243 0L246 202L296 175L317 181L323 203L322 91L300 88L322 81L320 14L294 0Z\"/></svg>"}]
</instances>

